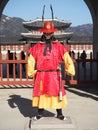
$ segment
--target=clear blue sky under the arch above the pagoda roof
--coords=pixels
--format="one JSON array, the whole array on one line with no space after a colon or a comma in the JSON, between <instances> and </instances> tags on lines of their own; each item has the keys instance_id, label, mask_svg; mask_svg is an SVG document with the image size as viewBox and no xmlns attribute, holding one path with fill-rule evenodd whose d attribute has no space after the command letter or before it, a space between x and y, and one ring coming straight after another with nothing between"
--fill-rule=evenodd
<instances>
[{"instance_id":1,"label":"clear blue sky under the arch above the pagoda roof","mask_svg":"<svg viewBox=\"0 0 98 130\"><path fill-rule=\"evenodd\" d=\"M51 18L52 4L54 17L72 22L71 26L92 23L91 14L84 0L9 0L3 14L20 17L25 21L42 18L45 5L45 18Z\"/></svg>"}]
</instances>

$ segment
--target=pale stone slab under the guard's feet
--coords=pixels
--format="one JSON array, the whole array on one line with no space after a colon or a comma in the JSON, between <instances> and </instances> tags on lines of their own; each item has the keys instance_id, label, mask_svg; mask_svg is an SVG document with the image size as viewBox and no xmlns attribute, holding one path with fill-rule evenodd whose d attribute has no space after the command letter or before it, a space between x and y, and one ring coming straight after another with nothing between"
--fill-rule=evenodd
<instances>
[{"instance_id":1,"label":"pale stone slab under the guard's feet","mask_svg":"<svg viewBox=\"0 0 98 130\"><path fill-rule=\"evenodd\" d=\"M66 120L62 121L55 117L43 117L40 120L34 121L33 118L29 122L29 126L31 130L39 130L39 129L45 129L45 130L68 130L68 129L75 129L75 124L73 123L72 119L67 116Z\"/></svg>"}]
</instances>

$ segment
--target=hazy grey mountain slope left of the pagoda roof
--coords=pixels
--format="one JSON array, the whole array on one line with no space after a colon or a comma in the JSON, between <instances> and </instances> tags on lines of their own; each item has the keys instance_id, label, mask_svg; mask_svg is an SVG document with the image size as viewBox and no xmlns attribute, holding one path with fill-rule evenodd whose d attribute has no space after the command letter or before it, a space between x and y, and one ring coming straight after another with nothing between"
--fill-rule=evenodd
<instances>
[{"instance_id":1,"label":"hazy grey mountain slope left of the pagoda roof","mask_svg":"<svg viewBox=\"0 0 98 130\"><path fill-rule=\"evenodd\" d=\"M16 17L8 17L2 15L0 25L0 43L2 42L17 42L21 39L21 32L27 32L23 27L24 20Z\"/></svg>"}]
</instances>

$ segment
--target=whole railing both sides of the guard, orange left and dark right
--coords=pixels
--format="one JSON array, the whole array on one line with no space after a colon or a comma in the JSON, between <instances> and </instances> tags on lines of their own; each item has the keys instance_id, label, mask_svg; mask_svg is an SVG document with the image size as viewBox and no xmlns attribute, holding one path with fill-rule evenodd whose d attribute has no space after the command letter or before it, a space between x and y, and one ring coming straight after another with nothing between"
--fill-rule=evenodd
<instances>
[{"instance_id":1,"label":"whole railing both sides of the guard, orange left and dark right","mask_svg":"<svg viewBox=\"0 0 98 130\"><path fill-rule=\"evenodd\" d=\"M0 54L0 57L2 57L2 54ZM23 63L25 64L25 72L22 67ZM12 68L10 65L12 65ZM12 69L12 74L9 73L10 69ZM96 59L92 59L91 53L90 59L86 60L79 59L78 53L75 69L76 75L74 77L67 76L66 84L98 83L98 53ZM25 60L22 60L21 57L16 60L15 54L13 54L12 60L8 59L8 55L6 60L0 60L0 85L33 85L33 83L34 79L29 79L27 75L27 56Z\"/></svg>"}]
</instances>

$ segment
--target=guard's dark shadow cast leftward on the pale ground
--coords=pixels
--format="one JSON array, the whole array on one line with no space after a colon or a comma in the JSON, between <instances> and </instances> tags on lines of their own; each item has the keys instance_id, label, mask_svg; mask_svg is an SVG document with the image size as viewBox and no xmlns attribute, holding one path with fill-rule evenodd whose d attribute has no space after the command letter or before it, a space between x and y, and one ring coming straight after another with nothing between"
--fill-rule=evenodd
<instances>
[{"instance_id":1,"label":"guard's dark shadow cast leftward on the pale ground","mask_svg":"<svg viewBox=\"0 0 98 130\"><path fill-rule=\"evenodd\" d=\"M10 99L8 99L9 106L14 109L18 107L20 113L24 117L32 118L37 114L37 108L32 107L32 101L27 98L23 98L20 95L10 95ZM44 116L52 117L54 113L49 112L47 110L44 111Z\"/></svg>"}]
</instances>

